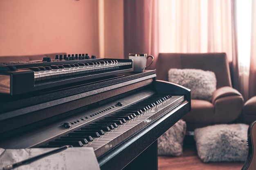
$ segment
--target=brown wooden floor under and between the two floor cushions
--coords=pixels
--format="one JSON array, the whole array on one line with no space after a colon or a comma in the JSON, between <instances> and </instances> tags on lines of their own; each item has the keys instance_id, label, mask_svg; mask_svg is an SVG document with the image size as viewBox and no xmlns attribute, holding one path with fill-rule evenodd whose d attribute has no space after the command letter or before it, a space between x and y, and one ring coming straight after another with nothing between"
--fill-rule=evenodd
<instances>
[{"instance_id":1,"label":"brown wooden floor under and between the two floor cushions","mask_svg":"<svg viewBox=\"0 0 256 170\"><path fill-rule=\"evenodd\" d=\"M244 162L202 163L193 137L185 137L181 157L159 156L158 170L241 170Z\"/></svg>"}]
</instances>

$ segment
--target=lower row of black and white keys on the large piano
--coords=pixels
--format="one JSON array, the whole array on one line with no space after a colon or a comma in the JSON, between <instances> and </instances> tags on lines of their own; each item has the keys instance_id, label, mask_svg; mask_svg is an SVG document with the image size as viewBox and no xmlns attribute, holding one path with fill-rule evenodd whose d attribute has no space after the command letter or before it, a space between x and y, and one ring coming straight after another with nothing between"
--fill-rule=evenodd
<instances>
[{"instance_id":1,"label":"lower row of black and white keys on the large piano","mask_svg":"<svg viewBox=\"0 0 256 170\"><path fill-rule=\"evenodd\" d=\"M40 147L93 147L99 157L183 101L184 96L153 95Z\"/></svg>"}]
</instances>

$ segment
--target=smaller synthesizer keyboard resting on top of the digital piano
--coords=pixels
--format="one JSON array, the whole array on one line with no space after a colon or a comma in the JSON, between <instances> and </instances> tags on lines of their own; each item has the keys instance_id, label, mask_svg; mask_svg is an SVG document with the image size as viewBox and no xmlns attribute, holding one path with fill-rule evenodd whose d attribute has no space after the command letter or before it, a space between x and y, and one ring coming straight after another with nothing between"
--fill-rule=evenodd
<instances>
[{"instance_id":1,"label":"smaller synthesizer keyboard resting on top of the digital piano","mask_svg":"<svg viewBox=\"0 0 256 170\"><path fill-rule=\"evenodd\" d=\"M132 60L125 59L49 61L2 63L0 94L17 95L133 71Z\"/></svg>"}]
</instances>

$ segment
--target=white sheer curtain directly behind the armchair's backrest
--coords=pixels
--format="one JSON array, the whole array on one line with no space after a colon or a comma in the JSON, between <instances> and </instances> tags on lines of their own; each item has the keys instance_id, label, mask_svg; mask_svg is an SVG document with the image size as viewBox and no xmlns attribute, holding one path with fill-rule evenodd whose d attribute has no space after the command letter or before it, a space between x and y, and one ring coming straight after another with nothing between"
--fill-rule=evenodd
<instances>
[{"instance_id":1,"label":"white sheer curtain directly behind the armchair's backrest","mask_svg":"<svg viewBox=\"0 0 256 170\"><path fill-rule=\"evenodd\" d=\"M225 52L231 60L231 0L159 0L159 52Z\"/></svg>"}]
</instances>

